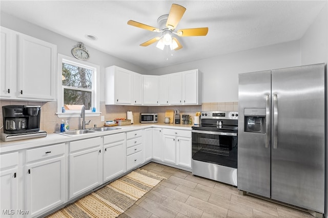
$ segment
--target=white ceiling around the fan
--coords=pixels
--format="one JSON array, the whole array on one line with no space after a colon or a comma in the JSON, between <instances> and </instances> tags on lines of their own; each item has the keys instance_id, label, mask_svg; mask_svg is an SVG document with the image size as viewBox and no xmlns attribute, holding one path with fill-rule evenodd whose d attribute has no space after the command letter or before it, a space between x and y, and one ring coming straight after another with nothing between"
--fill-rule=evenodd
<instances>
[{"instance_id":1,"label":"white ceiling around the fan","mask_svg":"<svg viewBox=\"0 0 328 218\"><path fill-rule=\"evenodd\" d=\"M173 3L187 8L177 30L209 27L208 35L178 37L183 48L173 56L157 49L156 43L139 46L160 33L127 21L157 27L157 18L168 14ZM1 12L151 70L300 39L325 4L325 0L1 1ZM97 40L86 38L87 34Z\"/></svg>"}]
</instances>

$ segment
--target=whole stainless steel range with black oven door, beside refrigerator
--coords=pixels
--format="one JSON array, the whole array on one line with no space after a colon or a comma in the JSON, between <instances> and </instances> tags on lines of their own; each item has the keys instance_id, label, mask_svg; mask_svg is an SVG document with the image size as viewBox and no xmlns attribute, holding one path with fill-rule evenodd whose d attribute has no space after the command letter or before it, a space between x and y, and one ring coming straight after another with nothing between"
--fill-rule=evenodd
<instances>
[{"instance_id":1,"label":"whole stainless steel range with black oven door, beside refrigerator","mask_svg":"<svg viewBox=\"0 0 328 218\"><path fill-rule=\"evenodd\" d=\"M193 175L237 186L238 112L201 112L192 127Z\"/></svg>"}]
</instances>

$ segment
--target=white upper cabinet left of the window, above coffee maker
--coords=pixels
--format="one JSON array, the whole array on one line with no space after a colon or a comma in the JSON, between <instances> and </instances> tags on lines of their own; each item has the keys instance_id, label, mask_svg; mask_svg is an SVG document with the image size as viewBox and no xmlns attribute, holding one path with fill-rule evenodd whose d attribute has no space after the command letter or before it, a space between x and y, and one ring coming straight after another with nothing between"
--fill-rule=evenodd
<instances>
[{"instance_id":1,"label":"white upper cabinet left of the window, above coffee maker","mask_svg":"<svg viewBox=\"0 0 328 218\"><path fill-rule=\"evenodd\" d=\"M56 45L1 27L1 47L2 98L55 100Z\"/></svg>"}]
</instances>

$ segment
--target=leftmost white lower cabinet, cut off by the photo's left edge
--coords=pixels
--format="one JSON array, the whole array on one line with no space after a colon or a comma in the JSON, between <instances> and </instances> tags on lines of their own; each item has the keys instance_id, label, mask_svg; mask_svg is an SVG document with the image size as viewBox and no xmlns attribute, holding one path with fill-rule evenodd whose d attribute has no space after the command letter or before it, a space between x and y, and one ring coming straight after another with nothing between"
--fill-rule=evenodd
<instances>
[{"instance_id":1,"label":"leftmost white lower cabinet, cut off by the photo's left edge","mask_svg":"<svg viewBox=\"0 0 328 218\"><path fill-rule=\"evenodd\" d=\"M17 217L18 152L0 155L0 216Z\"/></svg>"}]
</instances>

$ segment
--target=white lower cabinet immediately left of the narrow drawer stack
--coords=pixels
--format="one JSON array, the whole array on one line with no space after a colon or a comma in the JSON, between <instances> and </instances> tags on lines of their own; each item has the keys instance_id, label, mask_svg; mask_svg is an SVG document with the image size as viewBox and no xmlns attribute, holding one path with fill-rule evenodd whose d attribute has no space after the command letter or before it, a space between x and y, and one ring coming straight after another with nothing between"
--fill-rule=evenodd
<instances>
[{"instance_id":1,"label":"white lower cabinet immediately left of the narrow drawer stack","mask_svg":"<svg viewBox=\"0 0 328 218\"><path fill-rule=\"evenodd\" d=\"M106 182L126 171L125 133L104 136L103 150L103 182Z\"/></svg>"}]
</instances>

